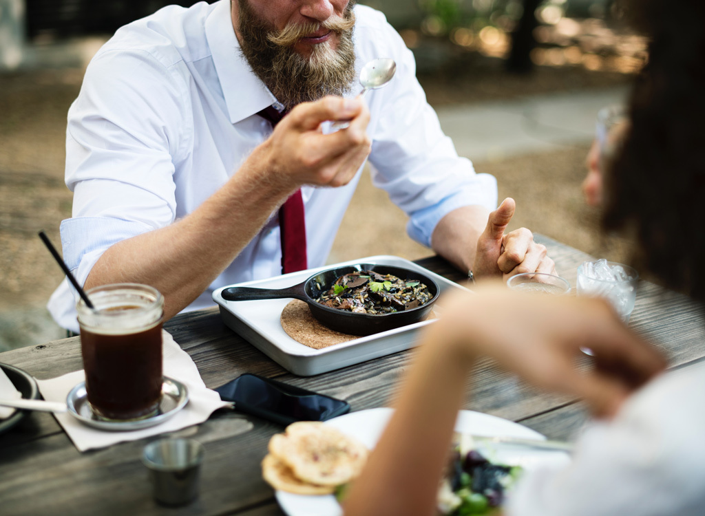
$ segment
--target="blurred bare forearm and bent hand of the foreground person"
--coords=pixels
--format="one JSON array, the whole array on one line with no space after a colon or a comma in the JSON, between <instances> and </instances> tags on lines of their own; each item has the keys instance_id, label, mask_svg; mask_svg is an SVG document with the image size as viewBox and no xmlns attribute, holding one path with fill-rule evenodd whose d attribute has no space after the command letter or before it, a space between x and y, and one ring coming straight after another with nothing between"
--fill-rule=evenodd
<instances>
[{"instance_id":1,"label":"blurred bare forearm and bent hand of the foreground person","mask_svg":"<svg viewBox=\"0 0 705 516\"><path fill-rule=\"evenodd\" d=\"M610 416L663 369L654 350L605 302L510 293L492 285L441 301L425 331L396 411L345 502L347 516L433 515L467 374L478 357L547 391L583 398ZM578 369L581 347L594 367Z\"/></svg>"}]
</instances>

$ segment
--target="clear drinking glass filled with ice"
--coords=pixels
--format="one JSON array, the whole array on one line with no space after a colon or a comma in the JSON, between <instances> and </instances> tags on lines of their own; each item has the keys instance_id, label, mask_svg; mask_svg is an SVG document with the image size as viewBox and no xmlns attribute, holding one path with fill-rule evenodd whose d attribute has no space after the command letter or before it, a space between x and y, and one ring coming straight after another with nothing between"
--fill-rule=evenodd
<instances>
[{"instance_id":1,"label":"clear drinking glass filled with ice","mask_svg":"<svg viewBox=\"0 0 705 516\"><path fill-rule=\"evenodd\" d=\"M577 268L577 295L604 297L629 322L637 300L639 273L632 267L599 259Z\"/></svg>"}]
</instances>

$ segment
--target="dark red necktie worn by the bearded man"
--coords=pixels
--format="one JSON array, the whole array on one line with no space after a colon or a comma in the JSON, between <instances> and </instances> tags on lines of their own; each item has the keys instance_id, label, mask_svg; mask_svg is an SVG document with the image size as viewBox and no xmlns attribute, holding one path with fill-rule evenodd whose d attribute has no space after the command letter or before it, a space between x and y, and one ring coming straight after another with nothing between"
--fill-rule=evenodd
<instances>
[{"instance_id":1,"label":"dark red necktie worn by the bearded man","mask_svg":"<svg viewBox=\"0 0 705 516\"><path fill-rule=\"evenodd\" d=\"M286 113L286 111L280 113L273 106L267 106L257 114L269 120L274 127ZM281 234L282 274L307 269L306 219L301 190L296 190L279 208L279 233Z\"/></svg>"}]
</instances>

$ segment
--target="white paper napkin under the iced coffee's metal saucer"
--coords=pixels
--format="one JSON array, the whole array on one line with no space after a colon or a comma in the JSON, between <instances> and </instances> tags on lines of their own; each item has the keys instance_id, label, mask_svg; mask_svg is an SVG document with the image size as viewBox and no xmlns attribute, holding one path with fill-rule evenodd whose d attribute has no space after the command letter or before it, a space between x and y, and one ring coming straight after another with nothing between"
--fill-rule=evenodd
<instances>
[{"instance_id":1,"label":"white paper napkin under the iced coffee's metal saucer","mask_svg":"<svg viewBox=\"0 0 705 516\"><path fill-rule=\"evenodd\" d=\"M71 414L54 414L79 451L104 448L123 441L135 441L200 424L208 419L215 410L228 405L221 400L216 391L205 386L196 364L188 353L174 342L172 336L166 331L162 332L162 335L164 376L178 380L188 388L188 404L171 419L167 419L157 426L132 431L105 431L82 424ZM37 383L45 400L65 402L69 391L82 381L85 381L85 374L83 370L80 370L50 380L38 380Z\"/></svg>"}]
</instances>

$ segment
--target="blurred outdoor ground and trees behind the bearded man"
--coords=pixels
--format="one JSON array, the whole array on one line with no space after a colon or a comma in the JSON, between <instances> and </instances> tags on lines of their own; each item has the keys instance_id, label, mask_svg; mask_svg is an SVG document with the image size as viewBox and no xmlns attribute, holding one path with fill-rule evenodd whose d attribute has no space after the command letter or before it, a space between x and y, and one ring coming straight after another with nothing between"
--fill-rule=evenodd
<instances>
[{"instance_id":1,"label":"blurred outdoor ground and trees behind the bearded man","mask_svg":"<svg viewBox=\"0 0 705 516\"><path fill-rule=\"evenodd\" d=\"M623 102L646 41L613 0L367 0L417 59L417 75L459 154L514 197L510 226L624 262L600 238L580 183L597 110ZM62 278L37 231L60 243L71 216L63 183L66 112L85 66L121 25L168 0L0 0L0 350L61 338L45 308ZM431 251L406 216L360 182L329 263Z\"/></svg>"}]
</instances>

